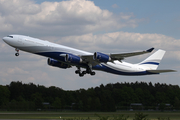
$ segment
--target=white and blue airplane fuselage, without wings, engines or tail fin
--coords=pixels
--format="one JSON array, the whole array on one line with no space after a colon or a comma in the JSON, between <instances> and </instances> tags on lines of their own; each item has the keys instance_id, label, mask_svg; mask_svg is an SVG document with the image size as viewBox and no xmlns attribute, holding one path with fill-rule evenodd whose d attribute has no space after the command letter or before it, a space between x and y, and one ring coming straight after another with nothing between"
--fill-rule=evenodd
<instances>
[{"instance_id":1,"label":"white and blue airplane fuselage, without wings, engines or tail fin","mask_svg":"<svg viewBox=\"0 0 180 120\"><path fill-rule=\"evenodd\" d=\"M65 62L63 60L64 54L93 55L93 53L90 52L23 35L7 36L4 37L3 40L10 46L19 50L53 58L62 62ZM73 65L81 67L81 63L79 65ZM145 75L148 74L146 70L149 68L138 64L130 64L124 61L120 62L115 60L113 62L100 63L99 65L92 66L92 69L121 75Z\"/></svg>"}]
</instances>

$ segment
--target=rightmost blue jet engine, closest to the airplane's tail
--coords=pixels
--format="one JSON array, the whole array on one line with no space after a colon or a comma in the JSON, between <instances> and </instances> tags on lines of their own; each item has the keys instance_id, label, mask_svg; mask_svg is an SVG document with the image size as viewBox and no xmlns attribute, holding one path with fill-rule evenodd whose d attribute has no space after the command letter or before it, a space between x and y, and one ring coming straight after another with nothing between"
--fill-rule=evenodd
<instances>
[{"instance_id":1,"label":"rightmost blue jet engine, closest to the airplane's tail","mask_svg":"<svg viewBox=\"0 0 180 120\"><path fill-rule=\"evenodd\" d=\"M94 53L94 60L106 63L106 62L111 60L111 57L109 57L109 55L104 54L104 53L95 52Z\"/></svg>"}]
</instances>

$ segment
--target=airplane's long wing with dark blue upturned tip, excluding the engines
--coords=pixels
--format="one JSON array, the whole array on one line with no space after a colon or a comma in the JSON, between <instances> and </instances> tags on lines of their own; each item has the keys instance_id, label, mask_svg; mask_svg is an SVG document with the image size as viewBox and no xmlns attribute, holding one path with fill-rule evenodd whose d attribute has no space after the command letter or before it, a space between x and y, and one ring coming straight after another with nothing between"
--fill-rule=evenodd
<instances>
[{"instance_id":1,"label":"airplane's long wing with dark blue upturned tip, excluding the engines","mask_svg":"<svg viewBox=\"0 0 180 120\"><path fill-rule=\"evenodd\" d=\"M132 56L142 55L145 53L150 53L153 50L154 50L154 48L150 48L148 50L140 51L140 52L120 53L120 54L104 54L104 55L109 56L111 58L110 62L112 62L114 60L121 61L126 57L132 57ZM94 55L81 55L80 57L82 58L84 63L91 64L92 66L95 66L95 65L98 65L101 63L100 61L97 61L94 59Z\"/></svg>"}]
</instances>

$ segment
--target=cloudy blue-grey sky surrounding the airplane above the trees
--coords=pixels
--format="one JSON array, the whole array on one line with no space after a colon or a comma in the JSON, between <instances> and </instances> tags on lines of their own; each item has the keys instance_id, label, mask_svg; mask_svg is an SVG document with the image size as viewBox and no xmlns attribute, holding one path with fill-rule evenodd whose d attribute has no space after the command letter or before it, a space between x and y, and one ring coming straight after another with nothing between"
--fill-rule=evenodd
<instances>
[{"instance_id":1,"label":"cloudy blue-grey sky surrounding the airplane above the trees","mask_svg":"<svg viewBox=\"0 0 180 120\"><path fill-rule=\"evenodd\" d=\"M59 69L47 58L20 51L0 40L0 84L34 83L64 90L88 89L108 83L152 82L180 85L179 0L0 0L0 38L27 35L89 52L124 53L163 49L158 69L177 72L121 76L96 71L79 77L76 67ZM139 63L150 54L125 59Z\"/></svg>"}]
</instances>

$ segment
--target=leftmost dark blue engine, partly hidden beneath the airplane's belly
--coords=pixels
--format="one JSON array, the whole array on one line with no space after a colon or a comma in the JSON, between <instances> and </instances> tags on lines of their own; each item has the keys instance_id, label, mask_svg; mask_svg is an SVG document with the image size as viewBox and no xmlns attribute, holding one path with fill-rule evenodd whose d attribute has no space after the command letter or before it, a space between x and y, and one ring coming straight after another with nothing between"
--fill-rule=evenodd
<instances>
[{"instance_id":1,"label":"leftmost dark blue engine, partly hidden beneath the airplane's belly","mask_svg":"<svg viewBox=\"0 0 180 120\"><path fill-rule=\"evenodd\" d=\"M59 68L64 68L64 69L70 68L70 65L59 62L59 61L52 59L52 58L48 58L47 63L48 63L48 65L54 66L54 67L59 67Z\"/></svg>"}]
</instances>

